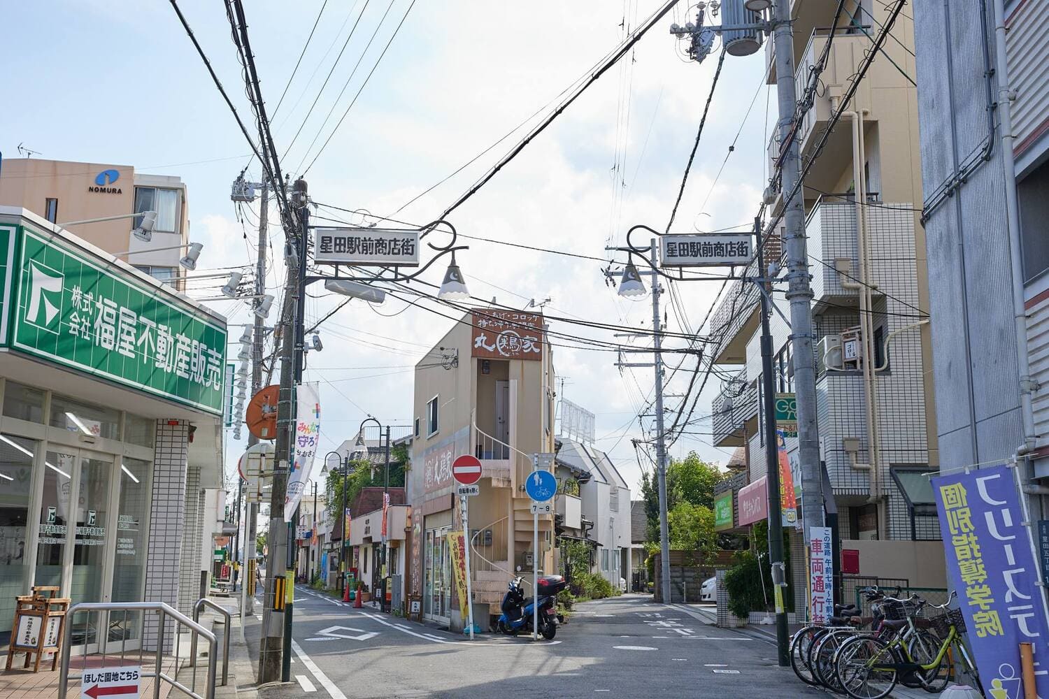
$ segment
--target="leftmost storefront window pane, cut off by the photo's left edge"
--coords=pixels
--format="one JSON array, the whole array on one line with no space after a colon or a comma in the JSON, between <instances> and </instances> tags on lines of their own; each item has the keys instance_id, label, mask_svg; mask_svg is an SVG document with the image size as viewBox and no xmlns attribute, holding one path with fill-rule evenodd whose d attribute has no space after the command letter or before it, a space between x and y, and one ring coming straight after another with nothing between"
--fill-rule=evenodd
<instances>
[{"instance_id":1,"label":"leftmost storefront window pane, cut off by the photo's left edge","mask_svg":"<svg viewBox=\"0 0 1049 699\"><path fill-rule=\"evenodd\" d=\"M5 645L14 621L15 597L25 592L29 568L25 541L35 449L36 442L29 439L0 435L0 646Z\"/></svg>"}]
</instances>

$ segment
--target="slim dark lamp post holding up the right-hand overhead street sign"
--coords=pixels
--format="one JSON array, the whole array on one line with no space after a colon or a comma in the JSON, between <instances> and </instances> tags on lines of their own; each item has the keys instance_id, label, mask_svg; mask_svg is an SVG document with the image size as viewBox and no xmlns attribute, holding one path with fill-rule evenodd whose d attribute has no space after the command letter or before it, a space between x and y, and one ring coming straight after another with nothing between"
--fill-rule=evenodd
<instances>
[{"instance_id":1,"label":"slim dark lamp post holding up the right-hand overhead street sign","mask_svg":"<svg viewBox=\"0 0 1049 699\"><path fill-rule=\"evenodd\" d=\"M762 299L762 402L765 413L765 466L769 499L769 562L778 573L772 575L776 603L776 655L780 668L790 664L790 640L787 634L787 609L784 607L784 524L783 499L779 497L779 445L776 441L776 396L772 376L772 331L769 315L772 313L770 293L772 284L767 283L768 270L765 266L765 252L762 245L762 219L754 219L754 234L757 238L757 290Z\"/></svg>"}]
</instances>

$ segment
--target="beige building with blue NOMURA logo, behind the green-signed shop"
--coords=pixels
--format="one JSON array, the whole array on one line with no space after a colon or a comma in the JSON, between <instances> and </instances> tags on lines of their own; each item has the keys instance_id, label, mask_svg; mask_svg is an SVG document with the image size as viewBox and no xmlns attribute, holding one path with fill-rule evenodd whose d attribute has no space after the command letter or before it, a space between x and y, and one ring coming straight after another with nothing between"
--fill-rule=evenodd
<instances>
[{"instance_id":1,"label":"beige building with blue NOMURA logo, behind the green-signed shop","mask_svg":"<svg viewBox=\"0 0 1049 699\"><path fill-rule=\"evenodd\" d=\"M0 204L21 206L51 223L127 216L126 219L63 225L140 271L183 289L186 270L178 260L189 244L186 184L170 175L135 173L132 166L20 158L0 169ZM153 238L131 235L142 221L132 217L156 212ZM119 255L125 253L124 255Z\"/></svg>"}]
</instances>

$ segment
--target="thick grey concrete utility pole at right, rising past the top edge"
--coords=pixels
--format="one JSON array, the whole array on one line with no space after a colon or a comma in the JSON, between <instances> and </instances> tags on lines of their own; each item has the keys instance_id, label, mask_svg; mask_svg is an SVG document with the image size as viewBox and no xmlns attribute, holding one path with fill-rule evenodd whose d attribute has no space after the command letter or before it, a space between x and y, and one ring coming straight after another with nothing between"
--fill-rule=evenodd
<instances>
[{"instance_id":1,"label":"thick grey concrete utility pole at right, rising past the top edge","mask_svg":"<svg viewBox=\"0 0 1049 699\"><path fill-rule=\"evenodd\" d=\"M791 38L789 0L777 0L773 20L776 61L776 99L779 105L779 139L786 143L794 118L794 41ZM816 369L812 349L812 287L805 235L805 193L798 185L798 144L791 138L783 154L780 181L785 197L784 223L787 247L787 301L790 303L793 343L794 392L797 397L798 459L801 464L802 541L811 527L823 526L823 494L820 482L819 430L816 425ZM796 188L796 190L795 190ZM793 196L790 196L794 193Z\"/></svg>"}]
</instances>

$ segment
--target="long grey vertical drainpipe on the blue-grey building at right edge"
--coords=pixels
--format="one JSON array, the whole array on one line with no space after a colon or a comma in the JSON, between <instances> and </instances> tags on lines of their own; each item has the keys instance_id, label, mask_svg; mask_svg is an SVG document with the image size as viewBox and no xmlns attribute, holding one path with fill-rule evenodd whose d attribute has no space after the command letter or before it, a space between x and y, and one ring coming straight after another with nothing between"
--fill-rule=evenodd
<instances>
[{"instance_id":1,"label":"long grey vertical drainpipe on the blue-grey building at right edge","mask_svg":"<svg viewBox=\"0 0 1049 699\"><path fill-rule=\"evenodd\" d=\"M1016 202L1016 163L1012 155L1012 100L1016 94L1009 88L1009 66L1005 57L1005 4L994 0L994 71L998 74L998 109L1001 122L1002 168L1005 171L1006 227L1009 233L1009 262L1012 268L1012 313L1016 335L1016 367L1020 370L1020 411L1024 420L1024 441L1016 447L1022 457L1034 451L1036 433L1031 393L1037 381L1031 377L1027 353L1027 311L1024 308L1024 266L1020 257L1020 206Z\"/></svg>"}]
</instances>

